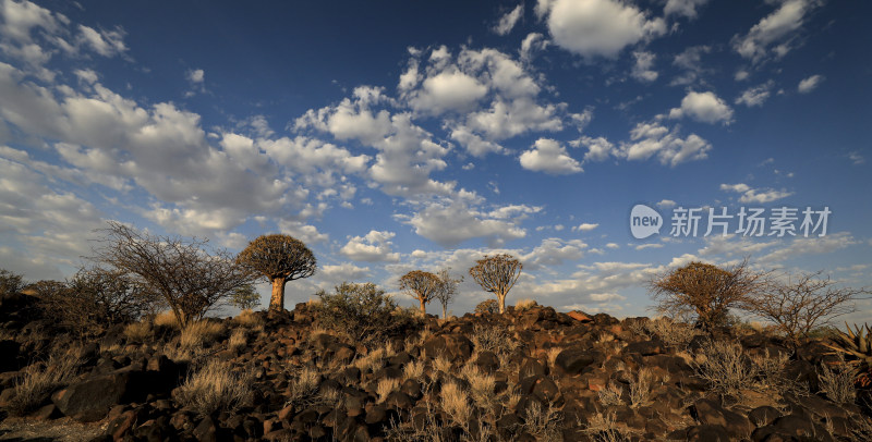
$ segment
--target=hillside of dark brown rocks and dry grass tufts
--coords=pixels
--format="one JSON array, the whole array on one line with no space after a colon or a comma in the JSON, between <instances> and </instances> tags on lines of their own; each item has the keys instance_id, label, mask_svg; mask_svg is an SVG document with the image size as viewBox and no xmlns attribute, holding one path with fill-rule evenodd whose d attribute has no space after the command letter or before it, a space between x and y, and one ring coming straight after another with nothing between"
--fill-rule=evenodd
<instances>
[{"instance_id":1,"label":"hillside of dark brown rocks and dry grass tufts","mask_svg":"<svg viewBox=\"0 0 872 442\"><path fill-rule=\"evenodd\" d=\"M524 303L364 345L300 304L81 342L28 308L0 305L0 440L872 438L869 391L821 342L790 349L752 329L712 337Z\"/></svg>"}]
</instances>

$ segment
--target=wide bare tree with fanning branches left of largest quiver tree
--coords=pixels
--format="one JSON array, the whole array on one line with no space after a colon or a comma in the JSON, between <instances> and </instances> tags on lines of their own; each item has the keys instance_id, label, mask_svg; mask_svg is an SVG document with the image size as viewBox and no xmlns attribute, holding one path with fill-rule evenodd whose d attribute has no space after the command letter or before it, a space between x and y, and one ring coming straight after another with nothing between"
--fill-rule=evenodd
<instances>
[{"instance_id":1,"label":"wide bare tree with fanning branches left of largest quiver tree","mask_svg":"<svg viewBox=\"0 0 872 442\"><path fill-rule=\"evenodd\" d=\"M106 237L92 259L135 275L138 284L160 294L182 327L203 318L253 278L227 250L207 247L207 240L155 236L118 222L102 231Z\"/></svg>"}]
</instances>

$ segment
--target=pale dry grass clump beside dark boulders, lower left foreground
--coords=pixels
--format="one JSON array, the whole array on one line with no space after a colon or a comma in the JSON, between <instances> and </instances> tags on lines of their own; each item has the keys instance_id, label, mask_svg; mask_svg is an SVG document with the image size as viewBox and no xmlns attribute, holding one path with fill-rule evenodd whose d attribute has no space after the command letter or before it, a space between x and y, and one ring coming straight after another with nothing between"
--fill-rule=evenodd
<instances>
[{"instance_id":1,"label":"pale dry grass clump beside dark boulders, lower left foreground","mask_svg":"<svg viewBox=\"0 0 872 442\"><path fill-rule=\"evenodd\" d=\"M230 365L211 360L189 376L172 395L182 406L190 406L202 416L235 412L251 404L253 381L253 371L233 371Z\"/></svg>"}]
</instances>

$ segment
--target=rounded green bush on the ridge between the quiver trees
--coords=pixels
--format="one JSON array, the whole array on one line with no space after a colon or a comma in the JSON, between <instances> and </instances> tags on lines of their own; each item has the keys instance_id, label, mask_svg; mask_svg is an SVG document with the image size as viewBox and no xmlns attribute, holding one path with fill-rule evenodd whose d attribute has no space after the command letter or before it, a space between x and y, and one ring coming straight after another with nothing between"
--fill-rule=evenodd
<instances>
[{"instance_id":1,"label":"rounded green bush on the ridge between the quiver trees","mask_svg":"<svg viewBox=\"0 0 872 442\"><path fill-rule=\"evenodd\" d=\"M382 341L400 334L416 320L377 285L343 282L335 293L320 291L317 324L346 334L355 342Z\"/></svg>"}]
</instances>

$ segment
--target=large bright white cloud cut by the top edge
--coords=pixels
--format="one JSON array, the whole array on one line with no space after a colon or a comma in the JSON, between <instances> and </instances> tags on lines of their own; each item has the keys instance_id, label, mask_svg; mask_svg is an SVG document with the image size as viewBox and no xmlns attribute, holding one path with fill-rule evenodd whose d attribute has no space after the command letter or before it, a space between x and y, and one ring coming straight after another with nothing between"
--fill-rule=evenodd
<instances>
[{"instance_id":1,"label":"large bright white cloud cut by the top edge","mask_svg":"<svg viewBox=\"0 0 872 442\"><path fill-rule=\"evenodd\" d=\"M547 11L558 46L583 57L616 57L627 46L666 33L663 19L649 20L634 5L615 0L553 0L540 2L536 11Z\"/></svg>"}]
</instances>

